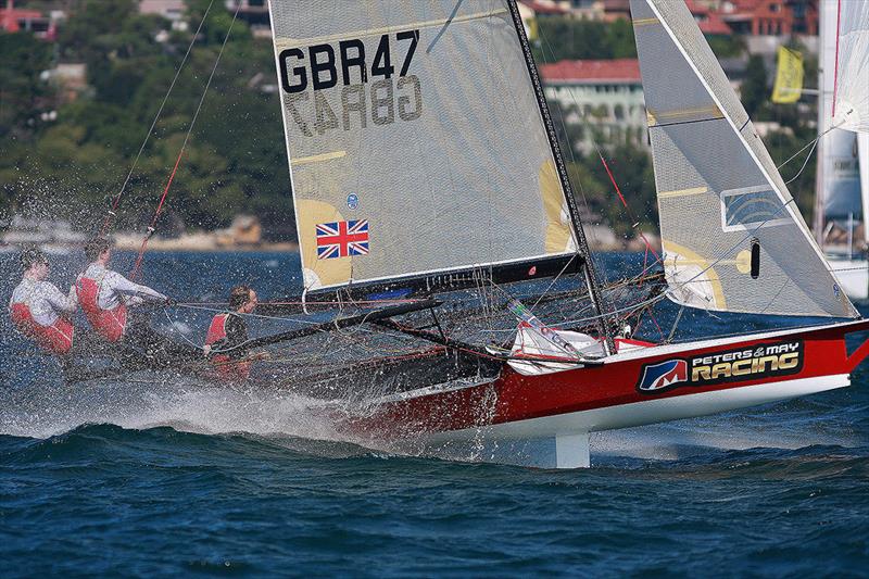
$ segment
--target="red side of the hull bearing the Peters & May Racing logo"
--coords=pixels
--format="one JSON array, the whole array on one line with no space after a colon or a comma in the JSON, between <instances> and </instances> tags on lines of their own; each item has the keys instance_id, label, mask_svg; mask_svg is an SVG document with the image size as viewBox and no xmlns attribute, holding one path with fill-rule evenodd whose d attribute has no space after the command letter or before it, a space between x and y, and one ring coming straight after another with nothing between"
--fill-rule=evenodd
<instances>
[{"instance_id":1,"label":"red side of the hull bearing the Peters & May Racing logo","mask_svg":"<svg viewBox=\"0 0 869 579\"><path fill-rule=\"evenodd\" d=\"M869 329L869 320L782 331L763 338L746 337L744 341L694 350L662 352L663 349L655 348L650 349L646 356L541 376L522 376L505 365L501 376L492 382L383 402L378 413L357 418L352 428L390 438L413 437L782 380L849 374L869 355L869 340L848 355L845 335L866 329ZM774 361L774 356L764 357L778 351L783 353ZM738 357L741 355L751 357L742 360ZM675 358L690 360L695 365L708 360L710 365L703 368L728 373L732 368L734 374L720 379L714 377L710 383L676 385L659 392L638 389L646 366ZM716 361L722 360L720 364L723 365L717 367ZM782 368L791 369L769 372L779 363ZM742 379L741 375L748 372L753 374ZM697 373L703 374L703 369Z\"/></svg>"}]
</instances>

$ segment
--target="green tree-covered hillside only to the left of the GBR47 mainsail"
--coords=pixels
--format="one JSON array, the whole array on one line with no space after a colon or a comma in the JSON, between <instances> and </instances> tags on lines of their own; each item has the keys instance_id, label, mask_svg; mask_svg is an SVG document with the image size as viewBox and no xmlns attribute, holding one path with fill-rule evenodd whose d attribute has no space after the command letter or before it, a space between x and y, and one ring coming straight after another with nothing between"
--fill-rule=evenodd
<instances>
[{"instance_id":1,"label":"green tree-covered hillside only to the left of the GBR47 mainsail","mask_svg":"<svg viewBox=\"0 0 869 579\"><path fill-rule=\"evenodd\" d=\"M191 28L204 5L190 7ZM12 63L0 73L3 206L68 214L79 225L99 221L121 190L192 38L192 30L173 32L168 21L140 15L134 0L80 7L56 46L23 33L0 35ZM153 212L231 22L215 2L131 175L122 227L141 226ZM90 89L72 102L45 79L58 62L87 65ZM292 222L277 96L263 90L274 85L274 66L270 42L236 21L175 177L167 222L212 228L240 212L273 228Z\"/></svg>"}]
</instances>

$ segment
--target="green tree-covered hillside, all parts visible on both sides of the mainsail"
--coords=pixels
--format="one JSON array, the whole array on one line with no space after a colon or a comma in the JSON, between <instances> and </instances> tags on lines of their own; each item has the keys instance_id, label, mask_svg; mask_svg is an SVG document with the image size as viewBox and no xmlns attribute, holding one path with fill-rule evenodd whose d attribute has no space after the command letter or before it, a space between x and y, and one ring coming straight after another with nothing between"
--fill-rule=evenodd
<instances>
[{"instance_id":1,"label":"green tree-covered hillside, all parts visible on both sides of the mainsail","mask_svg":"<svg viewBox=\"0 0 869 579\"><path fill-rule=\"evenodd\" d=\"M125 182L167 87L202 20L211 12L160 121L130 175L118 214L121 228L141 229L150 219L175 164L221 46L232 23L224 2L188 0L188 30L174 30L160 16L141 15L135 0L78 0L55 42L29 34L0 34L0 219L13 213L68 217L78 229L100 223L110 199ZM627 21L540 18L536 58L635 56ZM715 38L721 56L744 51L739 38ZM59 64L84 63L86 85L70 88L48 73ZM254 213L266 234L292 234L292 207L272 45L248 26L232 26L211 89L175 177L161 231L215 228L238 213ZM809 72L809 75L811 73ZM784 161L814 139L813 113L769 103L764 62L752 58L743 85L746 109L784 129L767 138L772 156ZM75 96L76 98L72 98ZM569 143L578 115L554 111L569 173L582 202L619 234L633 225L599 155ZM585 127L589 128L589 127ZM593 127L592 127L593 128ZM644 148L608 142L600 152L634 215L656 228L654 176ZM805 153L784 167L796 173ZM814 162L792 188L804 214L814 198Z\"/></svg>"}]
</instances>

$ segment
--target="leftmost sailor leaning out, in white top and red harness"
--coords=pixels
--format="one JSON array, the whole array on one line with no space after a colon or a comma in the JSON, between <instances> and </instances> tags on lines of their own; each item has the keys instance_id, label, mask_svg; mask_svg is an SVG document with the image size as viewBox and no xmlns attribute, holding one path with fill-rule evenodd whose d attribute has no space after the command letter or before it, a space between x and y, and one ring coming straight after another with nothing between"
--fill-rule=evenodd
<instances>
[{"instance_id":1,"label":"leftmost sailor leaning out, in white top and red harness","mask_svg":"<svg viewBox=\"0 0 869 579\"><path fill-rule=\"evenodd\" d=\"M70 288L70 295L64 295L47 281L48 259L35 248L22 252L21 265L24 276L9 303L12 322L43 350L68 353L75 333L68 317L76 310L75 291Z\"/></svg>"}]
</instances>

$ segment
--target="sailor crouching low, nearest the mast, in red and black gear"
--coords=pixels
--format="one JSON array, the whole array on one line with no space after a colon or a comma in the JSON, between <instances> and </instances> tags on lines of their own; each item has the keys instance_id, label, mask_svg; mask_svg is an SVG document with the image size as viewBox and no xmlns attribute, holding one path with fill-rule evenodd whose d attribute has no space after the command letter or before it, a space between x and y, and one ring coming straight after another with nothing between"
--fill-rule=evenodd
<instances>
[{"instance_id":1,"label":"sailor crouching low, nearest the mast, in red and black gear","mask_svg":"<svg viewBox=\"0 0 869 579\"><path fill-rule=\"evenodd\" d=\"M221 380L244 381L248 379L252 360L248 356L248 328L244 314L253 313L257 304L256 292L249 286L236 286L229 291L229 311L217 314L211 320L205 336L205 355L214 365ZM226 351L226 353L221 353ZM256 356L262 360L263 356Z\"/></svg>"}]
</instances>

